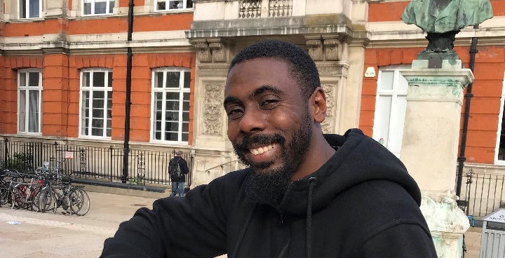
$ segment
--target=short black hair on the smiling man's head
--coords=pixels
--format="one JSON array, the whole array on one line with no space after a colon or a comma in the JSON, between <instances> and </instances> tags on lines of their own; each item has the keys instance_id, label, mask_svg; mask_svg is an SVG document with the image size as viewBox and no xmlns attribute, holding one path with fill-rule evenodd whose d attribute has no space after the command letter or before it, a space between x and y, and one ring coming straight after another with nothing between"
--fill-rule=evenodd
<instances>
[{"instance_id":1,"label":"short black hair on the smiling man's head","mask_svg":"<svg viewBox=\"0 0 505 258\"><path fill-rule=\"evenodd\" d=\"M260 41L244 48L231 60L228 73L236 64L261 57L279 58L290 64L291 75L299 81L302 95L307 99L317 87L321 87L316 63L309 53L295 44L279 40Z\"/></svg>"}]
</instances>

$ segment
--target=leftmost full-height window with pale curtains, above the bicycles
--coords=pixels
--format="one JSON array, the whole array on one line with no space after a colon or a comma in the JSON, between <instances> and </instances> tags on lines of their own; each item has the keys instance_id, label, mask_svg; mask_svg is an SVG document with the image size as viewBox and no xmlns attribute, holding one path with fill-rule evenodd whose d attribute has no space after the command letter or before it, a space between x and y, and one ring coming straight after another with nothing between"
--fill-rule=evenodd
<instances>
[{"instance_id":1,"label":"leftmost full-height window with pale curtains, above the bicycles","mask_svg":"<svg viewBox=\"0 0 505 258\"><path fill-rule=\"evenodd\" d=\"M42 73L38 69L18 72L18 133L41 133Z\"/></svg>"}]
</instances>

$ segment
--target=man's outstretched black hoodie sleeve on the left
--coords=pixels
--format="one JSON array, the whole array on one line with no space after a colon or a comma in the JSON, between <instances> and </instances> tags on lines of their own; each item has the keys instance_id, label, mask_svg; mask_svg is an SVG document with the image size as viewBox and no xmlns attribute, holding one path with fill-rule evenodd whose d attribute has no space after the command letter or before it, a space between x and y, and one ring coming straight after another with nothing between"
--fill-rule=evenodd
<instances>
[{"instance_id":1,"label":"man's outstretched black hoodie sleeve on the left","mask_svg":"<svg viewBox=\"0 0 505 258\"><path fill-rule=\"evenodd\" d=\"M233 174L233 173L230 173ZM228 175L230 175L228 174ZM100 257L215 257L226 252L227 217L240 178L220 177L184 198L168 197L140 208L105 240Z\"/></svg>"}]
</instances>

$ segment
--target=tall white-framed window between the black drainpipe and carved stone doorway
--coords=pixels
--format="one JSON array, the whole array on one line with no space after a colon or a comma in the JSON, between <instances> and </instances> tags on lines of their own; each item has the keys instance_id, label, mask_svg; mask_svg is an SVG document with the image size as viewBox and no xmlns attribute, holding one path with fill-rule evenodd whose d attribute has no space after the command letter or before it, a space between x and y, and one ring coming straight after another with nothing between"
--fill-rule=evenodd
<instances>
[{"instance_id":1,"label":"tall white-framed window between the black drainpipe and carved stone doorway","mask_svg":"<svg viewBox=\"0 0 505 258\"><path fill-rule=\"evenodd\" d=\"M152 140L187 144L190 82L189 69L153 70Z\"/></svg>"}]
</instances>

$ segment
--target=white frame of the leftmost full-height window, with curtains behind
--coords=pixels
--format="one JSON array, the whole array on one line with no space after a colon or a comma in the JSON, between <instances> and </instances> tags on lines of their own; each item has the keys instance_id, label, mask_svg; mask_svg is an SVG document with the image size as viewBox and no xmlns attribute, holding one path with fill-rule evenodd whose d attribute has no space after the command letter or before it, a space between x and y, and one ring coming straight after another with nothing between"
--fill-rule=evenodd
<instances>
[{"instance_id":1,"label":"white frame of the leftmost full-height window, with curtains behind","mask_svg":"<svg viewBox=\"0 0 505 258\"><path fill-rule=\"evenodd\" d=\"M29 87L29 73L36 72L39 74L39 86L37 87ZM20 79L21 79L21 74L25 73L26 79L25 79L25 85L21 86L20 85ZM20 103L21 103L21 90L25 90L25 130L22 131L20 128L20 116L21 116L21 109L20 109ZM37 103L37 109L39 110L39 116L38 116L38 131L37 132L29 132L29 90L37 90L39 92L39 100ZM18 123L18 133L20 134L27 134L27 135L41 135L42 134L42 70L41 69L20 69L18 70L18 120L16 123Z\"/></svg>"}]
</instances>

